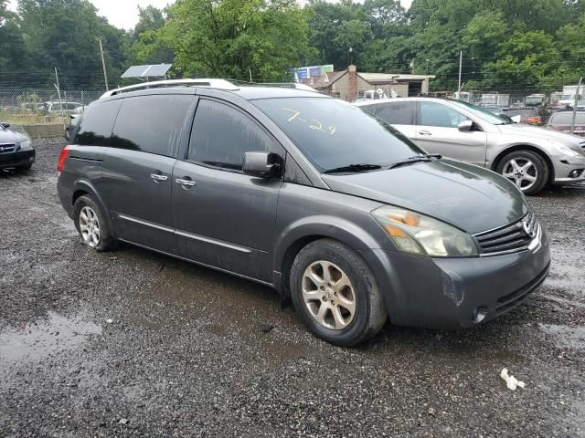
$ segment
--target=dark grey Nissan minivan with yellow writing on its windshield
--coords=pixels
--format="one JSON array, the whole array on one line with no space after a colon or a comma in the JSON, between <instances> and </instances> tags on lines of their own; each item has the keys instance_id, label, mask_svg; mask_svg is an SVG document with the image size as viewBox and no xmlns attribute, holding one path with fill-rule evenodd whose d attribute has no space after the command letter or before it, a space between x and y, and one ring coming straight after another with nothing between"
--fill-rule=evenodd
<instances>
[{"instance_id":1,"label":"dark grey Nissan minivan with yellow writing on its windshield","mask_svg":"<svg viewBox=\"0 0 585 438\"><path fill-rule=\"evenodd\" d=\"M548 275L547 235L495 172L313 92L185 85L112 91L71 129L58 196L85 245L274 287L343 346L387 318L473 327Z\"/></svg>"}]
</instances>

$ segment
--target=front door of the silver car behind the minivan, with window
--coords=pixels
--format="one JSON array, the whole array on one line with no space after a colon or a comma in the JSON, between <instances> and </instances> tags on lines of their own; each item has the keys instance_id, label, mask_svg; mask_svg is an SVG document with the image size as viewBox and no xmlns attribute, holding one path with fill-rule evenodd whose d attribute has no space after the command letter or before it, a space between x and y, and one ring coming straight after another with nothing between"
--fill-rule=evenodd
<instances>
[{"instance_id":1,"label":"front door of the silver car behind the minivan, with window","mask_svg":"<svg viewBox=\"0 0 585 438\"><path fill-rule=\"evenodd\" d=\"M484 166L487 134L477 124L473 130L459 130L457 126L465 120L470 119L448 105L422 100L416 143L429 153Z\"/></svg>"}]
</instances>

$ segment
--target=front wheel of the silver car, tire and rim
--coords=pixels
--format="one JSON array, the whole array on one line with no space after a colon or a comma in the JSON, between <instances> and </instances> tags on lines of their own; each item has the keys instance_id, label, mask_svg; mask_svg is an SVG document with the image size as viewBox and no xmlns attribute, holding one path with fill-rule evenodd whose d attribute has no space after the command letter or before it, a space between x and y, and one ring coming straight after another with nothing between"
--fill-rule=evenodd
<instances>
[{"instance_id":1,"label":"front wheel of the silver car, tire and rim","mask_svg":"<svg viewBox=\"0 0 585 438\"><path fill-rule=\"evenodd\" d=\"M537 153L514 151L500 160L496 172L516 184L522 193L532 195L543 189L549 171L547 162Z\"/></svg>"}]
</instances>

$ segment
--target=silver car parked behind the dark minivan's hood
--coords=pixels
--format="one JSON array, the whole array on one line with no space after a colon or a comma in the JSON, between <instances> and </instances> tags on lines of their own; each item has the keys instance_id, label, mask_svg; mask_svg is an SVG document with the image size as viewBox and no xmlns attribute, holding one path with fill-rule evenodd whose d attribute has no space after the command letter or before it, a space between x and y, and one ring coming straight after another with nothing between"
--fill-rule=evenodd
<instances>
[{"instance_id":1,"label":"silver car parked behind the dark minivan's hood","mask_svg":"<svg viewBox=\"0 0 585 438\"><path fill-rule=\"evenodd\" d=\"M585 139L496 115L460 100L382 99L356 106L420 148L501 173L525 194L585 181Z\"/></svg>"}]
</instances>

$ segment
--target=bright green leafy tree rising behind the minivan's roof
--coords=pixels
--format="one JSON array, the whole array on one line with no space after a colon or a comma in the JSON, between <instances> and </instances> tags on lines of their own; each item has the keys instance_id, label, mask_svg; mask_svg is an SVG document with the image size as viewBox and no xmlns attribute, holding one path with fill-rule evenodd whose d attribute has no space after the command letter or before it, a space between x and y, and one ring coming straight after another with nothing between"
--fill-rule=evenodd
<instances>
[{"instance_id":1,"label":"bright green leafy tree rising behind the minivan's roof","mask_svg":"<svg viewBox=\"0 0 585 438\"><path fill-rule=\"evenodd\" d=\"M186 76L257 81L291 78L312 53L294 0L178 0L154 42L175 53Z\"/></svg>"}]
</instances>

